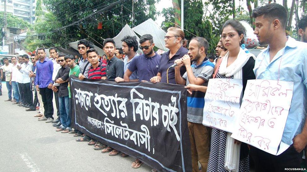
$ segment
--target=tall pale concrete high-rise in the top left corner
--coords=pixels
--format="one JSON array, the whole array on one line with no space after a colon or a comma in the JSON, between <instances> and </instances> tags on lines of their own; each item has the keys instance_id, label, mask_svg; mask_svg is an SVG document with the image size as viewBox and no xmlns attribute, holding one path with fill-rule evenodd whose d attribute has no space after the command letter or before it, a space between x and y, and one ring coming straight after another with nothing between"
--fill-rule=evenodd
<instances>
[{"instance_id":1,"label":"tall pale concrete high-rise in the top left corner","mask_svg":"<svg viewBox=\"0 0 307 172\"><path fill-rule=\"evenodd\" d=\"M6 11L33 24L35 23L36 0L6 0ZM0 1L0 11L4 12L4 2Z\"/></svg>"}]
</instances>

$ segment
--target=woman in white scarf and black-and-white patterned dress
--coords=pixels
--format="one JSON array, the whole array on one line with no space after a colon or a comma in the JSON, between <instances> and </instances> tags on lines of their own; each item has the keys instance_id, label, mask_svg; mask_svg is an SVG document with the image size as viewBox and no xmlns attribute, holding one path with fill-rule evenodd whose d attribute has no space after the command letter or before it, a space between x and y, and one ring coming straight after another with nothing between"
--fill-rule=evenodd
<instances>
[{"instance_id":1,"label":"woman in white scarf and black-and-white patterned dress","mask_svg":"<svg viewBox=\"0 0 307 172\"><path fill-rule=\"evenodd\" d=\"M215 78L242 79L243 93L247 80L255 79L253 71L255 56L240 48L240 45L244 43L245 33L243 25L236 20L228 20L224 23L221 39L228 52L221 59L220 66L217 66L218 71L215 71ZM190 91L205 92L207 87L187 86L186 88ZM234 140L230 135L231 133L212 128L208 172L249 171L247 144Z\"/></svg>"}]
</instances>

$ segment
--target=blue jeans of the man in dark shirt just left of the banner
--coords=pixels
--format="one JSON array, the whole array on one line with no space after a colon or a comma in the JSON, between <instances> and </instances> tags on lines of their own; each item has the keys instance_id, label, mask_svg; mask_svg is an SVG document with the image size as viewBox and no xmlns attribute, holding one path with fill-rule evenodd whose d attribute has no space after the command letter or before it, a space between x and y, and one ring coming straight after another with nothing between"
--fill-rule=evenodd
<instances>
[{"instance_id":1,"label":"blue jeans of the man in dark shirt just left of the banner","mask_svg":"<svg viewBox=\"0 0 307 172\"><path fill-rule=\"evenodd\" d=\"M70 113L69 113L69 97L59 97L59 110L60 110L60 119L65 129L70 128Z\"/></svg>"}]
</instances>

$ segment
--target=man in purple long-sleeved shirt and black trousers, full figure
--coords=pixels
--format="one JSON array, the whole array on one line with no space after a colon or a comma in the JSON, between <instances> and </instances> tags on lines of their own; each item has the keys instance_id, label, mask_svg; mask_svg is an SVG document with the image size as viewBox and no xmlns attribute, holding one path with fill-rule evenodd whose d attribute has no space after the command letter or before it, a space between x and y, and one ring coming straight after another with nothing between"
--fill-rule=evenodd
<instances>
[{"instance_id":1,"label":"man in purple long-sleeved shirt and black trousers, full figure","mask_svg":"<svg viewBox=\"0 0 307 172\"><path fill-rule=\"evenodd\" d=\"M45 49L39 48L37 50L39 60L36 62L36 78L35 87L42 95L42 102L44 104L44 115L39 121L52 122L53 121L53 86L52 73L53 62L46 57Z\"/></svg>"}]
</instances>

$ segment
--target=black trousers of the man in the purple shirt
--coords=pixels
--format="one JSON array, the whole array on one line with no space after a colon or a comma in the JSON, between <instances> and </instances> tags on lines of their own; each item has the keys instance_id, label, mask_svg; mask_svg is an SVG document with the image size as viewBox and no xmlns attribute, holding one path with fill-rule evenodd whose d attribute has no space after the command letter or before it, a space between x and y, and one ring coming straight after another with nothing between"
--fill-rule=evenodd
<instances>
[{"instance_id":1,"label":"black trousers of the man in the purple shirt","mask_svg":"<svg viewBox=\"0 0 307 172\"><path fill-rule=\"evenodd\" d=\"M48 87L39 88L39 94L42 95L42 102L44 104L45 109L45 117L53 119L53 91Z\"/></svg>"}]
</instances>

